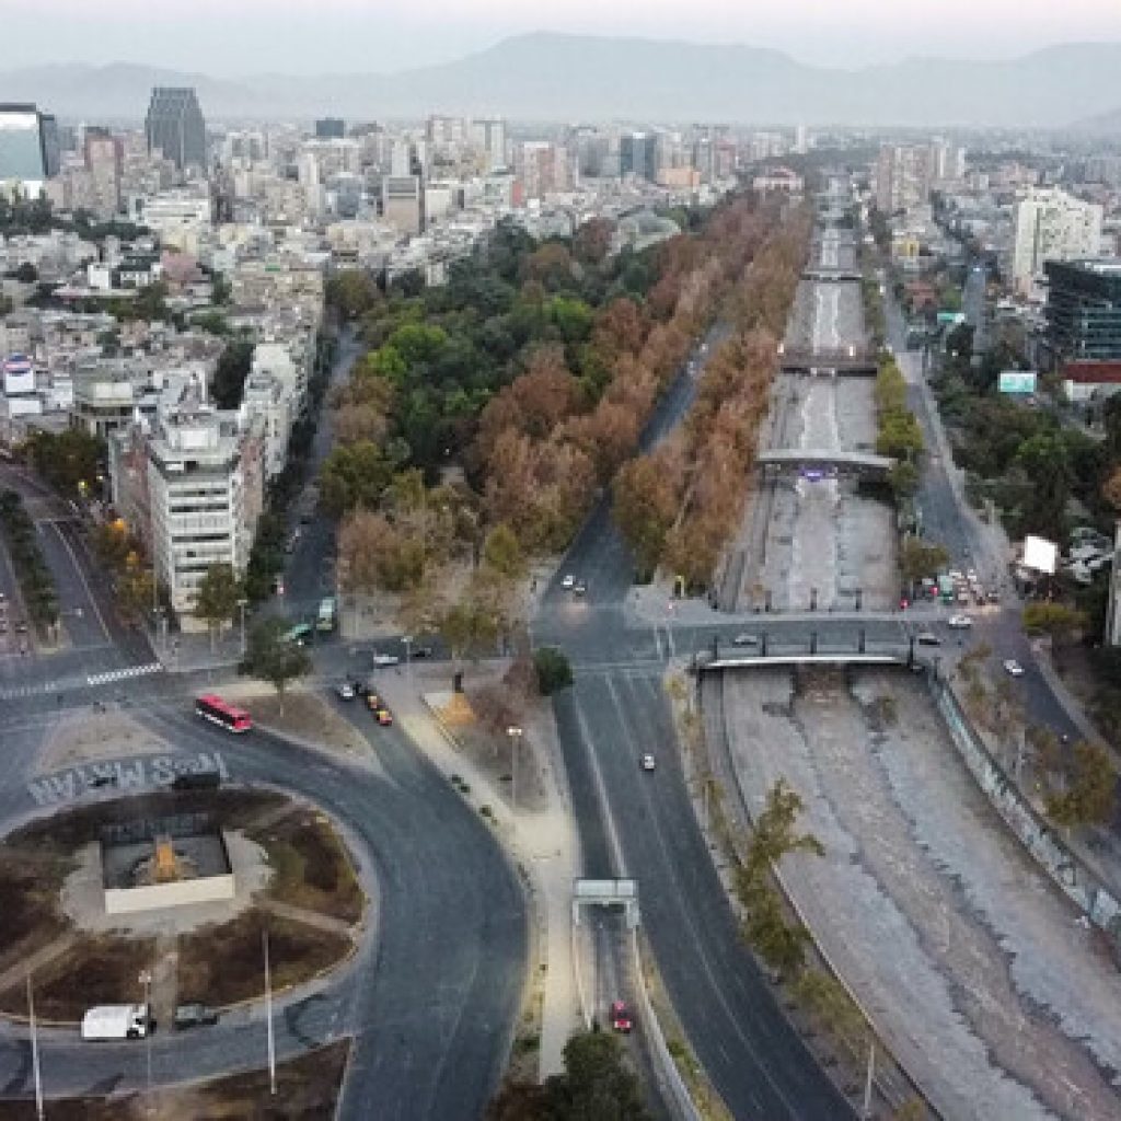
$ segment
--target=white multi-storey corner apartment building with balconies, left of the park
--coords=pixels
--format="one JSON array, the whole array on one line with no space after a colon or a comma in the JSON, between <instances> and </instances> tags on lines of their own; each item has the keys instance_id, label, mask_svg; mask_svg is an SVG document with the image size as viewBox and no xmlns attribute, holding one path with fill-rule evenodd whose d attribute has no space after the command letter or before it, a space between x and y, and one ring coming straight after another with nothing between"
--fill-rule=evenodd
<instances>
[{"instance_id":1,"label":"white multi-storey corner apartment building with balconies, left of the park","mask_svg":"<svg viewBox=\"0 0 1121 1121\"><path fill-rule=\"evenodd\" d=\"M206 569L243 573L261 508L259 445L237 418L197 393L161 417L147 442L151 550L156 576L183 614L195 605Z\"/></svg>"}]
</instances>

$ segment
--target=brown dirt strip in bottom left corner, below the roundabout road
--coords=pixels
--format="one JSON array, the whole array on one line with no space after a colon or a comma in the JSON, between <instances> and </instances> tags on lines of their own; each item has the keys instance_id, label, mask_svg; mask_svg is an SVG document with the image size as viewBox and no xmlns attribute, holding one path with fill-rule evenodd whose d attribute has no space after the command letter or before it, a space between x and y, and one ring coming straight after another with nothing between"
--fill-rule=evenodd
<instances>
[{"instance_id":1,"label":"brown dirt strip in bottom left corner, below the roundabout road","mask_svg":"<svg viewBox=\"0 0 1121 1121\"><path fill-rule=\"evenodd\" d=\"M350 1040L308 1051L277 1066L277 1092L267 1071L161 1090L151 1095L52 1101L50 1121L322 1121L335 1115ZM0 1102L0 1121L33 1121L31 1102Z\"/></svg>"}]
</instances>

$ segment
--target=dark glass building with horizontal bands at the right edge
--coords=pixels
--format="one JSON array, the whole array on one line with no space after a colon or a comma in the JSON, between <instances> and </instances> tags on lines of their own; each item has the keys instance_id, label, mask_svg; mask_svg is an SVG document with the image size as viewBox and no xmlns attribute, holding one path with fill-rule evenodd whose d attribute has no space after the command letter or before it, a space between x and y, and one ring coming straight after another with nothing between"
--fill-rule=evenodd
<instances>
[{"instance_id":1,"label":"dark glass building with horizontal bands at the right edge","mask_svg":"<svg viewBox=\"0 0 1121 1121\"><path fill-rule=\"evenodd\" d=\"M1044 270L1051 359L1121 359L1121 259L1048 261Z\"/></svg>"}]
</instances>

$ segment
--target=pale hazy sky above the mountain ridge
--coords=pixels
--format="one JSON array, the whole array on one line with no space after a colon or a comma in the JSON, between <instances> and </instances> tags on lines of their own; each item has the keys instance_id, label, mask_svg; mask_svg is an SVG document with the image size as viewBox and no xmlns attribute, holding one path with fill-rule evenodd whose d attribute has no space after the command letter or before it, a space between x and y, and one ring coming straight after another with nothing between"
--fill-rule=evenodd
<instances>
[{"instance_id":1,"label":"pale hazy sky above the mountain ridge","mask_svg":"<svg viewBox=\"0 0 1121 1121\"><path fill-rule=\"evenodd\" d=\"M855 66L1121 41L1121 0L0 0L0 68L392 71L532 30L743 43Z\"/></svg>"}]
</instances>

